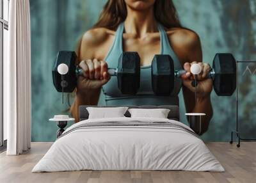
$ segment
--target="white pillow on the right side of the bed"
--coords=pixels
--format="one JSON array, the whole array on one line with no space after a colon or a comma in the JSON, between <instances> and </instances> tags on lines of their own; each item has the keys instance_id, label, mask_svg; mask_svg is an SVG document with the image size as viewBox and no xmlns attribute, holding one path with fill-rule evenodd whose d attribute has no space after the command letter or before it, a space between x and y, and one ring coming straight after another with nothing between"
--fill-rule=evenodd
<instances>
[{"instance_id":1,"label":"white pillow on the right side of the bed","mask_svg":"<svg viewBox=\"0 0 256 183\"><path fill-rule=\"evenodd\" d=\"M150 117L150 118L167 118L170 109L128 109L131 113L131 118Z\"/></svg>"}]
</instances>

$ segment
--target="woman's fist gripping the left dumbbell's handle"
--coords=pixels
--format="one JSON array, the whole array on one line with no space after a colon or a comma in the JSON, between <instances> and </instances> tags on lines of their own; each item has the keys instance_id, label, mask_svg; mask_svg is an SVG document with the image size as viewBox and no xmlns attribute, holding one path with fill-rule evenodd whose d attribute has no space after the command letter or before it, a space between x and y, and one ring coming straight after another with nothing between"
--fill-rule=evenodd
<instances>
[{"instance_id":1,"label":"woman's fist gripping the left dumbbell's handle","mask_svg":"<svg viewBox=\"0 0 256 183\"><path fill-rule=\"evenodd\" d=\"M77 91L79 92L101 88L110 79L106 61L83 60L79 63L79 67L83 69L83 76L77 78Z\"/></svg>"}]
</instances>

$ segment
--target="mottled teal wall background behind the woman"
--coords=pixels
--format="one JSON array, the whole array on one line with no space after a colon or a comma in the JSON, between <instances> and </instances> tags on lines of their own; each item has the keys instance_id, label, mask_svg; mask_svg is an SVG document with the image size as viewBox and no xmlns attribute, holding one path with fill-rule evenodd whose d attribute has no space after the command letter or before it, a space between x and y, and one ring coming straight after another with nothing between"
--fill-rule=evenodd
<instances>
[{"instance_id":1,"label":"mottled teal wall background behind the woman","mask_svg":"<svg viewBox=\"0 0 256 183\"><path fill-rule=\"evenodd\" d=\"M32 141L54 141L53 115L67 113L67 102L52 84L51 70L60 50L74 50L77 40L97 20L106 1L33 0L31 10ZM255 0L175 0L182 25L198 33L204 61L212 63L216 52L232 52L237 60L256 61ZM256 138L256 64L239 65L239 120L244 138ZM67 95L65 95L66 97ZM72 102L72 97L70 97ZM236 96L211 94L214 116L206 141L227 141L235 127ZM184 101L180 95L181 122Z\"/></svg>"}]
</instances>

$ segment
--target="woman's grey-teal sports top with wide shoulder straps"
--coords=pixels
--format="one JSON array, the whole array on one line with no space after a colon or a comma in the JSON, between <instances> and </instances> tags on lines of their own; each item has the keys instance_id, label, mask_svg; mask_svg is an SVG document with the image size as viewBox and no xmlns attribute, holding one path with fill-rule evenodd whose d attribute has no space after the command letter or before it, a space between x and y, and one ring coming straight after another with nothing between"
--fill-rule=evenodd
<instances>
[{"instance_id":1,"label":"woman's grey-teal sports top with wide shoulder straps","mask_svg":"<svg viewBox=\"0 0 256 183\"><path fill-rule=\"evenodd\" d=\"M166 31L161 24L158 24L158 30L161 39L160 54L169 54L173 58L175 70L181 69L180 61L178 60L175 52L173 52L168 36L166 35ZM108 67L110 68L117 67L118 58L123 52L123 33L124 22L122 22L116 29L115 40L105 58L105 61L108 63ZM151 65L141 67L140 74L140 89L137 95L123 95L117 87L116 77L111 77L108 83L102 86L100 103L104 102L106 106L179 105L178 93L180 92L182 85L181 79L175 78L174 90L170 96L156 96L154 95L151 87Z\"/></svg>"}]
</instances>

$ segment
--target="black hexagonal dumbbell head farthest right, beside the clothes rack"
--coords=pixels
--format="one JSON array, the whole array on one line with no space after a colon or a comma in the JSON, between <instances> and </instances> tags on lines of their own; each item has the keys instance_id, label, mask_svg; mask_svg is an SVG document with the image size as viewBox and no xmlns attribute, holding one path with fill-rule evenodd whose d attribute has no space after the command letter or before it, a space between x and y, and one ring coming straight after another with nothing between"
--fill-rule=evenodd
<instances>
[{"instance_id":1,"label":"black hexagonal dumbbell head farthest right, beside the clothes rack","mask_svg":"<svg viewBox=\"0 0 256 183\"><path fill-rule=\"evenodd\" d=\"M214 91L219 96L230 96L236 90L236 60L229 53L217 53L212 63Z\"/></svg>"}]
</instances>

